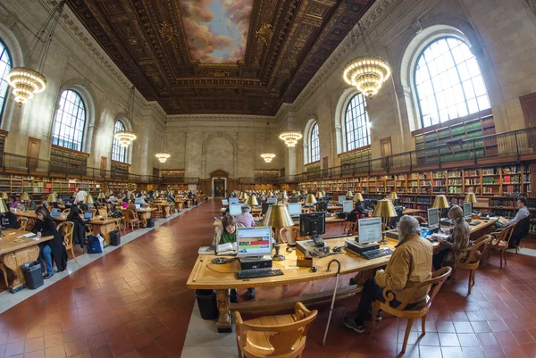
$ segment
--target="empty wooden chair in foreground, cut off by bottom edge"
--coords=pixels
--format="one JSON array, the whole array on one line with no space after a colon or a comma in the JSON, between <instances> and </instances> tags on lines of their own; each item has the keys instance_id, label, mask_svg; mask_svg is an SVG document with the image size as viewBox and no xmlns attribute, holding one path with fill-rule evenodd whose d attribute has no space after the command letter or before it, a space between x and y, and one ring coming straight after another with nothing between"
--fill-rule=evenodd
<instances>
[{"instance_id":1,"label":"empty wooden chair in foreground, cut off by bottom edge","mask_svg":"<svg viewBox=\"0 0 536 358\"><path fill-rule=\"evenodd\" d=\"M301 358L306 347L307 330L318 311L309 311L304 304L297 302L294 312L249 321L242 321L240 313L234 312L239 358Z\"/></svg>"}]
</instances>

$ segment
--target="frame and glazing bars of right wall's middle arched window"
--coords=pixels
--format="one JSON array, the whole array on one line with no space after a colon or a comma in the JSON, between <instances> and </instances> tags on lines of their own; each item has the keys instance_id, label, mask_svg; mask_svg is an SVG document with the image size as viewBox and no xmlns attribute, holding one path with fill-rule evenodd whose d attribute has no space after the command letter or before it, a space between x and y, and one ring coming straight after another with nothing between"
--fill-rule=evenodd
<instances>
[{"instance_id":1,"label":"frame and glazing bars of right wall's middle arched window","mask_svg":"<svg viewBox=\"0 0 536 358\"><path fill-rule=\"evenodd\" d=\"M357 103L354 107L350 108L350 106L352 105L352 102L358 96L361 96L360 98L362 98L363 100L361 102ZM361 105L363 105L363 112L357 113L355 110L357 108L360 108ZM355 117L354 117L353 113L356 113ZM349 115L352 115L352 119L349 120L349 121L352 122L352 128L353 129L352 129L351 132L348 130L348 116ZM354 126L354 124L360 124L360 122L363 121L363 119L364 119L364 124L362 124L361 126ZM370 128L369 128L370 120L369 120L369 116L368 116L368 111L366 109L366 98L363 96L363 94L361 92L356 93L354 96L350 97L350 99L348 101L348 104L345 107L343 124L344 124L344 135L345 135L344 137L345 137L345 145L346 145L345 153L355 151L357 149L364 148L365 146L370 146L371 145L372 138L371 138L371 131L370 131ZM361 130L362 133L364 132L364 136L359 137L359 139L366 139L366 143L364 143L363 146L357 146L357 143L359 142L359 139L356 139L356 136L360 132L359 129L362 129ZM350 141L350 137L351 137L350 133L354 134L354 139L351 140L351 141ZM350 143L352 143L352 145L354 147L350 148Z\"/></svg>"}]
</instances>

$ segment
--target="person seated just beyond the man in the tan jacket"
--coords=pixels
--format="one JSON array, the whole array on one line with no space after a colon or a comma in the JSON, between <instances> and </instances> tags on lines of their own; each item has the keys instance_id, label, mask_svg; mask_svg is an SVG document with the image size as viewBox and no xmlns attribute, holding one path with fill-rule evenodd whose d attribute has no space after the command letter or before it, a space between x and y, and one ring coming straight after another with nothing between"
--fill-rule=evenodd
<instances>
[{"instance_id":1,"label":"person seated just beyond the man in the tan jacket","mask_svg":"<svg viewBox=\"0 0 536 358\"><path fill-rule=\"evenodd\" d=\"M454 205L448 211L448 218L454 222L454 229L449 230L447 239L438 237L440 252L433 255L432 264L434 270L440 270L443 266L454 268L456 257L460 250L469 246L471 228L464 219L464 211L458 205ZM468 254L468 253L467 253Z\"/></svg>"}]
</instances>

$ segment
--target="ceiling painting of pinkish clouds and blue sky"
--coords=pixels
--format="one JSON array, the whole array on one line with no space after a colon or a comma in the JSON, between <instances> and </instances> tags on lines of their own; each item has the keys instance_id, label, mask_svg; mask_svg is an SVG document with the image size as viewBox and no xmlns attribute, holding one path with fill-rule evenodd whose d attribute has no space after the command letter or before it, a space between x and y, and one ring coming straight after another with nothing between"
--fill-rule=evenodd
<instances>
[{"instance_id":1,"label":"ceiling painting of pinkish clouds and blue sky","mask_svg":"<svg viewBox=\"0 0 536 358\"><path fill-rule=\"evenodd\" d=\"M253 0L179 0L192 58L237 62L246 54Z\"/></svg>"}]
</instances>

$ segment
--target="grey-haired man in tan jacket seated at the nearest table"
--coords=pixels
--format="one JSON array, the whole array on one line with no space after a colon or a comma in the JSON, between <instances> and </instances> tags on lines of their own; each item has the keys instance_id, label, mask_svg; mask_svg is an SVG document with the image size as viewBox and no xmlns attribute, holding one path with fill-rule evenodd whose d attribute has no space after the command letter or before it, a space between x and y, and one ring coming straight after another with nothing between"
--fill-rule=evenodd
<instances>
[{"instance_id":1,"label":"grey-haired man in tan jacket seated at the nearest table","mask_svg":"<svg viewBox=\"0 0 536 358\"><path fill-rule=\"evenodd\" d=\"M357 305L355 317L347 315L343 321L348 329L356 333L364 333L364 319L371 315L374 301L384 301L383 289L388 288L395 295L391 306L398 307L406 300L407 291L426 279L431 279L431 243L420 236L419 222L412 216L404 215L398 222L398 245L391 255L385 271L376 271L374 279L364 282L361 299ZM430 287L415 292L409 298L406 310L410 310L423 302ZM381 321L378 312L376 321Z\"/></svg>"}]
</instances>

